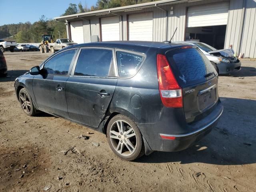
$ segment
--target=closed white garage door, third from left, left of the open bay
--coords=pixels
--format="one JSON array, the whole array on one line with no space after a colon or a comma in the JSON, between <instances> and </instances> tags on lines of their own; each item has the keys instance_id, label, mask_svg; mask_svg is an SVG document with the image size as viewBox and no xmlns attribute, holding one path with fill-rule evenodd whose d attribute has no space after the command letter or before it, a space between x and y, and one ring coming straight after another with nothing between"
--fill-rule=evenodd
<instances>
[{"instance_id":1,"label":"closed white garage door, third from left, left of the open bay","mask_svg":"<svg viewBox=\"0 0 256 192\"><path fill-rule=\"evenodd\" d=\"M153 40L153 13L131 14L129 20L129 40L152 41Z\"/></svg>"}]
</instances>

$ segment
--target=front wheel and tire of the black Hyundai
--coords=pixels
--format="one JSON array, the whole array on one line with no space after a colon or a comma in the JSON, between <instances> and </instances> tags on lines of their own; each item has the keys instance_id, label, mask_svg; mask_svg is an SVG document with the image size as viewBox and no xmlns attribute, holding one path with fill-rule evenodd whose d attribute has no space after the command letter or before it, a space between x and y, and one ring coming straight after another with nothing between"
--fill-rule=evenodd
<instances>
[{"instance_id":1,"label":"front wheel and tire of the black Hyundai","mask_svg":"<svg viewBox=\"0 0 256 192\"><path fill-rule=\"evenodd\" d=\"M36 114L36 109L34 107L32 98L26 88L22 88L19 93L20 106L22 107L24 113L28 116L34 116Z\"/></svg>"}]
</instances>

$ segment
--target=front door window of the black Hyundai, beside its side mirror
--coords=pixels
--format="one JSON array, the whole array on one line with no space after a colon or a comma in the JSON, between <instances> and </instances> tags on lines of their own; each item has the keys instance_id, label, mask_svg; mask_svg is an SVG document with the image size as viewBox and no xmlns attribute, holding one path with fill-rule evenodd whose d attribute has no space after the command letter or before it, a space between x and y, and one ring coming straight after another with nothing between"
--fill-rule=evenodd
<instances>
[{"instance_id":1,"label":"front door window of the black Hyundai, beside its side mirror","mask_svg":"<svg viewBox=\"0 0 256 192\"><path fill-rule=\"evenodd\" d=\"M72 49L54 56L44 64L44 69L48 74L67 75L75 52Z\"/></svg>"}]
</instances>

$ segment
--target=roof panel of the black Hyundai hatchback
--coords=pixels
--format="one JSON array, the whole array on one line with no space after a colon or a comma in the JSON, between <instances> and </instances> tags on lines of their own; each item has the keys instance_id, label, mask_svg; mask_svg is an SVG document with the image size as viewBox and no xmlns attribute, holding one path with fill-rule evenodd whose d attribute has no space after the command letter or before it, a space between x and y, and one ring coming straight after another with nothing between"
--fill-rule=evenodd
<instances>
[{"instance_id":1,"label":"roof panel of the black Hyundai hatchback","mask_svg":"<svg viewBox=\"0 0 256 192\"><path fill-rule=\"evenodd\" d=\"M152 41L105 41L105 42L76 44L72 47L97 46L97 47L110 47L110 48L124 48L124 49L130 50L136 47L179 48L180 46L184 46L184 45L186 45L186 42L164 43L164 42L152 42Z\"/></svg>"}]
</instances>

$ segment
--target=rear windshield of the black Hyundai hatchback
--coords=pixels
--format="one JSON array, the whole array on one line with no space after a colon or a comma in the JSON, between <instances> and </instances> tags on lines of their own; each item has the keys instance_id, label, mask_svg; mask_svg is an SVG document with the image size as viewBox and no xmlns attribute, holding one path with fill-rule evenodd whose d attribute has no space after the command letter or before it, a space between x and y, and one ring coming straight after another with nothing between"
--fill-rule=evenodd
<instances>
[{"instance_id":1,"label":"rear windshield of the black Hyundai hatchback","mask_svg":"<svg viewBox=\"0 0 256 192\"><path fill-rule=\"evenodd\" d=\"M190 86L214 77L217 72L196 48L169 51L166 57L180 86Z\"/></svg>"}]
</instances>

